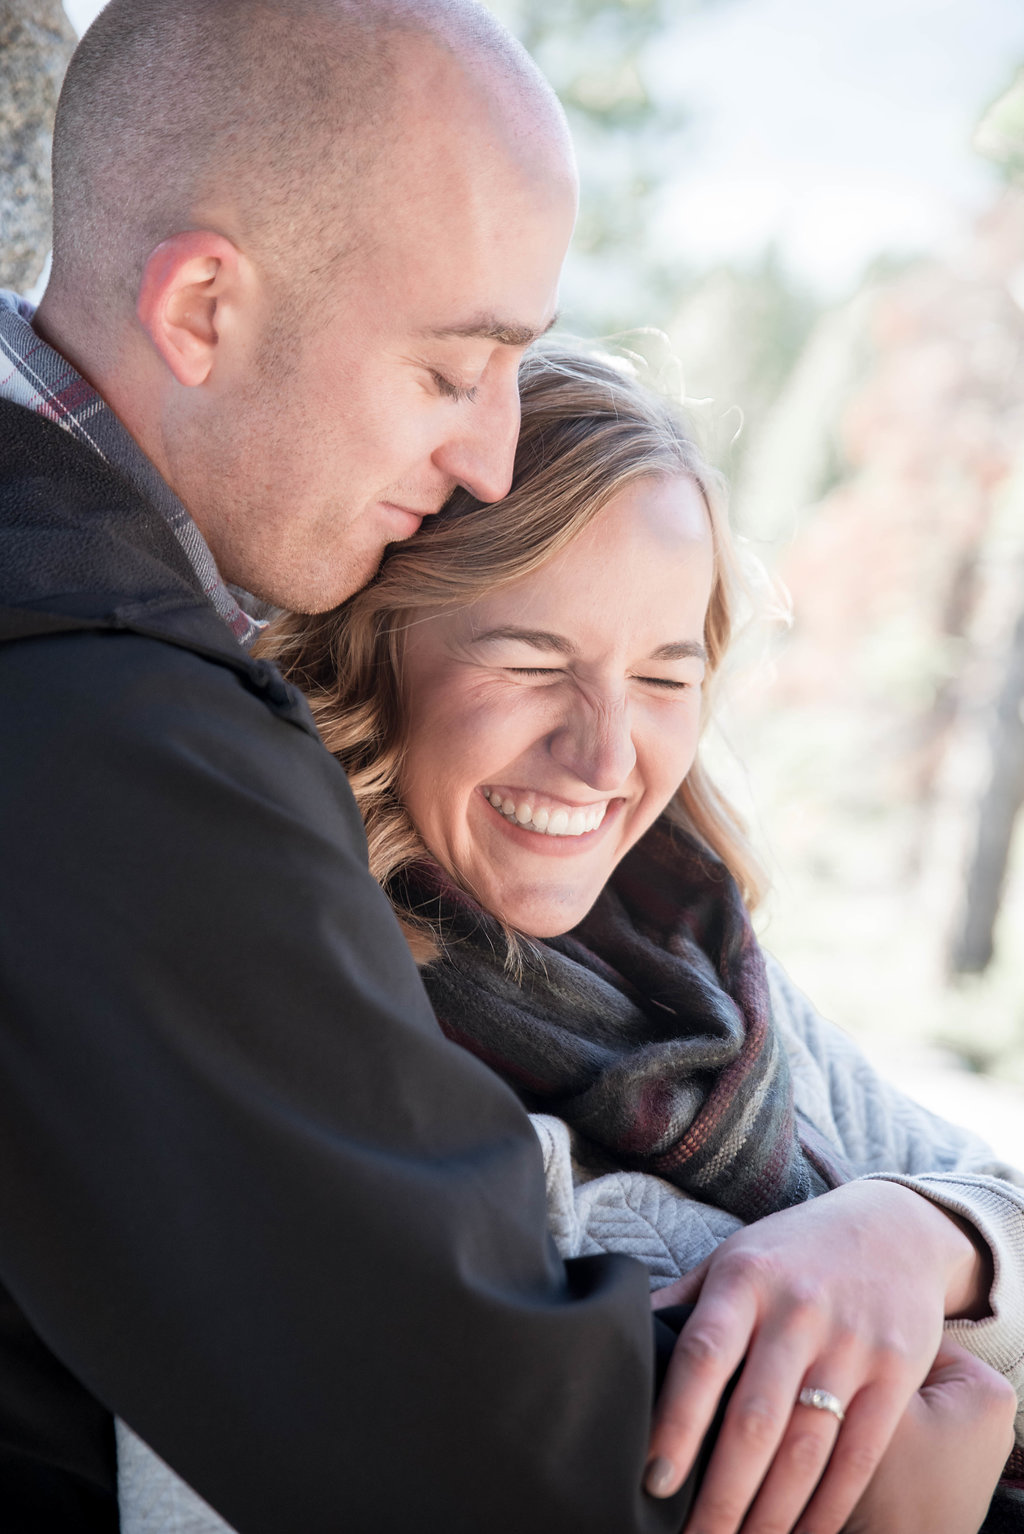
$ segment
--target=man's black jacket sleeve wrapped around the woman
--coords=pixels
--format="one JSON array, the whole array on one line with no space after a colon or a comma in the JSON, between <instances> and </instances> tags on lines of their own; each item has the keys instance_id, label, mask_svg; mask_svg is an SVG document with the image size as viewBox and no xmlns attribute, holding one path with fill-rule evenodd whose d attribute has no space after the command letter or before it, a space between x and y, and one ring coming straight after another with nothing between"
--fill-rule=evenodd
<instances>
[{"instance_id":1,"label":"man's black jacket sleeve wrapped around the woman","mask_svg":"<svg viewBox=\"0 0 1024 1534\"><path fill-rule=\"evenodd\" d=\"M136 635L0 652L0 1275L245 1534L656 1534L639 1264L437 1028L343 775Z\"/></svg>"}]
</instances>

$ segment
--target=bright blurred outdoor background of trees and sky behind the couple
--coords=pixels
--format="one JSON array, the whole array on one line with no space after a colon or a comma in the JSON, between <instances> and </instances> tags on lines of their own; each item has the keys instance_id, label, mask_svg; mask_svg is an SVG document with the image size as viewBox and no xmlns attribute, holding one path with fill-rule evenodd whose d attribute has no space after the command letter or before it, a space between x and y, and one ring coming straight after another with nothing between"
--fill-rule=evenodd
<instances>
[{"instance_id":1,"label":"bright blurred outdoor background of trees and sky behind the couple","mask_svg":"<svg viewBox=\"0 0 1024 1534\"><path fill-rule=\"evenodd\" d=\"M788 594L708 742L763 940L1024 1166L1024 6L492 9L578 144L564 328L685 393Z\"/></svg>"}]
</instances>

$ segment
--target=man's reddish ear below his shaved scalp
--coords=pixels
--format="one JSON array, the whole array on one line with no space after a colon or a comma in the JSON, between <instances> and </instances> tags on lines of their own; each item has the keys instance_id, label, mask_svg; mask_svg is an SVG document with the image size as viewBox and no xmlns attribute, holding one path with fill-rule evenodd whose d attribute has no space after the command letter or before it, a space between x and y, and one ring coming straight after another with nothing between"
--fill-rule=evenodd
<instances>
[{"instance_id":1,"label":"man's reddish ear below his shaved scalp","mask_svg":"<svg viewBox=\"0 0 1024 1534\"><path fill-rule=\"evenodd\" d=\"M146 262L135 313L185 388L210 376L225 308L239 299L242 265L238 245L207 229L172 235Z\"/></svg>"}]
</instances>

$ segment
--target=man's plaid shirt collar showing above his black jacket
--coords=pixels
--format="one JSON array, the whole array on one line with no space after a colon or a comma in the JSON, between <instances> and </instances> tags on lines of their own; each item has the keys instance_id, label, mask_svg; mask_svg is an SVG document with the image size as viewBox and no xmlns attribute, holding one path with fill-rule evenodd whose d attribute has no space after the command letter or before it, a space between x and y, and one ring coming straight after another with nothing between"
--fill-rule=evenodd
<instances>
[{"instance_id":1,"label":"man's plaid shirt collar showing above his black jacket","mask_svg":"<svg viewBox=\"0 0 1024 1534\"><path fill-rule=\"evenodd\" d=\"M109 405L58 351L32 330L32 304L0 290L0 399L34 410L87 443L164 517L181 543L205 598L239 641L250 646L265 617L250 617L224 583L210 548ZM239 594L247 595L247 594ZM253 604L253 598L248 598Z\"/></svg>"}]
</instances>

